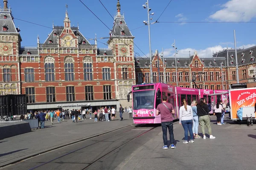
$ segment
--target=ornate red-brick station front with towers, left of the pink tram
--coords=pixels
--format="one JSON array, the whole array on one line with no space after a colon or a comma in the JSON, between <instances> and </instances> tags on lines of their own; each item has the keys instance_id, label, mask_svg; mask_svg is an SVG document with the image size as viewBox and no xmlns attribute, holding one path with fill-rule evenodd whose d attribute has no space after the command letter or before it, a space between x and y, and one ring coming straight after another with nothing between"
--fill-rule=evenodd
<instances>
[{"instance_id":1,"label":"ornate red-brick station front with towers, left of the pink tram","mask_svg":"<svg viewBox=\"0 0 256 170\"><path fill-rule=\"evenodd\" d=\"M12 10L0 9L0 94L26 94L28 110L81 109L115 106L125 102L135 83L133 39L124 16L117 15L108 40L109 49L90 44L71 26L53 26L37 47L21 47Z\"/></svg>"}]
</instances>

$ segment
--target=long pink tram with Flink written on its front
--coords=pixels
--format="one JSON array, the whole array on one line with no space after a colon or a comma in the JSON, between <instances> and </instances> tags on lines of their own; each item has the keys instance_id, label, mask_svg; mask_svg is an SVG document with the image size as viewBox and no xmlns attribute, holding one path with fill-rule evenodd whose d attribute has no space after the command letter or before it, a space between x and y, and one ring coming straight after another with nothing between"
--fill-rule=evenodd
<instances>
[{"instance_id":1,"label":"long pink tram with Flink written on its front","mask_svg":"<svg viewBox=\"0 0 256 170\"><path fill-rule=\"evenodd\" d=\"M162 96L168 97L175 109L175 118L179 118L179 108L182 106L181 100L186 99L188 105L193 100L205 98L208 103L215 105L215 97L213 90L181 88L164 83L141 84L132 86L132 106L133 119L135 124L154 124L161 123L160 115L156 115L157 105L162 103ZM209 96L210 95L210 96ZM127 96L130 101L130 94Z\"/></svg>"}]
</instances>

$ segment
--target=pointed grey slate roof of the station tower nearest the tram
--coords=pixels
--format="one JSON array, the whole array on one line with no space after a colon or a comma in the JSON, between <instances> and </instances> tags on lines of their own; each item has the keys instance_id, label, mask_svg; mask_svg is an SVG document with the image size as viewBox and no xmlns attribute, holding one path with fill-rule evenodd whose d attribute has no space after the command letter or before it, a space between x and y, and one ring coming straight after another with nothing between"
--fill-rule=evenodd
<instances>
[{"instance_id":1,"label":"pointed grey slate roof of the station tower nearest the tram","mask_svg":"<svg viewBox=\"0 0 256 170\"><path fill-rule=\"evenodd\" d=\"M119 0L117 0L117 14L114 17L114 25L111 31L111 37L133 37L131 34L130 29L128 28L127 24L125 23L125 16L121 14L121 5Z\"/></svg>"}]
</instances>

